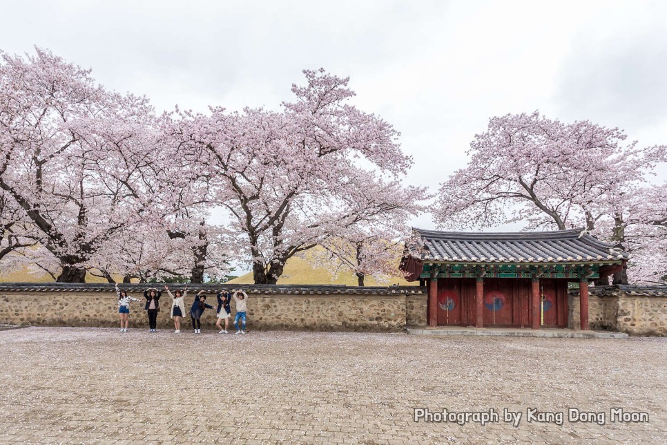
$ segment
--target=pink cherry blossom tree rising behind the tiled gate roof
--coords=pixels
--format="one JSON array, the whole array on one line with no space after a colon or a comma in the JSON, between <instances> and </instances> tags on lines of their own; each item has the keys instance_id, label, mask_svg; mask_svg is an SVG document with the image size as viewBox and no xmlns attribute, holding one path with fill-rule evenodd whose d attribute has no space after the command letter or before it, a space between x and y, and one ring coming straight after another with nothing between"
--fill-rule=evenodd
<instances>
[{"instance_id":1,"label":"pink cherry blossom tree rising behind the tiled gate roof","mask_svg":"<svg viewBox=\"0 0 667 445\"><path fill-rule=\"evenodd\" d=\"M493 117L476 135L470 162L441 184L434 217L441 227L527 223L528 229L586 227L623 245L628 224L653 200L632 198L666 160L665 146L638 148L619 129L566 124L532 114ZM615 283L627 283L625 272Z\"/></svg>"}]
</instances>

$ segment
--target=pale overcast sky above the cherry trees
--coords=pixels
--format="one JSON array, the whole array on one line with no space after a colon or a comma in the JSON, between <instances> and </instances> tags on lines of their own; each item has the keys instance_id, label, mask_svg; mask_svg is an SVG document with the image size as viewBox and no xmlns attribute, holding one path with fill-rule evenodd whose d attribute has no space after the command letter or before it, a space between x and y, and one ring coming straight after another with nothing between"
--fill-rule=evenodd
<instances>
[{"instance_id":1,"label":"pale overcast sky above the cherry trees","mask_svg":"<svg viewBox=\"0 0 667 445\"><path fill-rule=\"evenodd\" d=\"M278 108L304 68L349 75L355 104L402 133L408 181L433 190L494 115L539 109L667 144L667 1L22 0L1 11L0 49L48 48L159 111Z\"/></svg>"}]
</instances>

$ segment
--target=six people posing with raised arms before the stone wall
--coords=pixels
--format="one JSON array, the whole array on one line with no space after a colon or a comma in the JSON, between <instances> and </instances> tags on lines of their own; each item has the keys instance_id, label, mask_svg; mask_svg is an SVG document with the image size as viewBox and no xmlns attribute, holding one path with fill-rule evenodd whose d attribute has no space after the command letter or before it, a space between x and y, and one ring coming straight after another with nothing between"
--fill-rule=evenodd
<instances>
[{"instance_id":1,"label":"six people posing with raised arms before the stone wall","mask_svg":"<svg viewBox=\"0 0 667 445\"><path fill-rule=\"evenodd\" d=\"M171 297L171 318L174 321L174 333L181 333L181 320L185 316L185 297L188 294L188 287L185 287L185 290L176 290L174 294L171 293L167 285L164 286L167 294ZM130 321L130 302L131 301L141 301L135 299L127 294L126 291L120 290L118 285L116 285L116 294L118 295L118 313L120 316L120 332L127 332L128 323ZM144 291L144 299L146 299L146 304L144 305L144 310L148 314L148 329L151 332L157 330L157 313L160 312L160 297L162 292L157 290L156 287L150 287ZM236 305L236 316L234 318L234 326L236 328L237 334L246 333L246 310L247 310L247 301L248 294L238 290L231 294L231 292L221 291L218 292L218 309L216 310L218 314L218 322L215 323L215 326L220 330L220 334L227 334L229 329L229 319L231 318L231 300L234 300ZM202 333L202 315L206 309L213 309L213 306L206 303L206 294L203 290L195 295L195 301L190 307L190 319L192 321L192 328L195 334ZM222 321L224 320L224 328L222 328ZM239 325L239 321L241 324Z\"/></svg>"}]
</instances>

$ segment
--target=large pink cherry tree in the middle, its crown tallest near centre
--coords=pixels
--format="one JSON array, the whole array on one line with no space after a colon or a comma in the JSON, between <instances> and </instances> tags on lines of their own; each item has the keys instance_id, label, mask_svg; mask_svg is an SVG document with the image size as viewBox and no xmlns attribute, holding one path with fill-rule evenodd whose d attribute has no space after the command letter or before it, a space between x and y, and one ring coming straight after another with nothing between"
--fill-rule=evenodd
<instances>
[{"instance_id":1,"label":"large pink cherry tree in the middle, its crown tallest near centre","mask_svg":"<svg viewBox=\"0 0 667 445\"><path fill-rule=\"evenodd\" d=\"M210 178L213 202L229 211L227 242L248 258L255 283L275 284L291 256L394 209L376 184L412 162L390 124L348 103L349 79L304 73L307 84L292 86L296 100L280 112L179 112L172 131ZM360 190L369 195L364 206Z\"/></svg>"}]
</instances>

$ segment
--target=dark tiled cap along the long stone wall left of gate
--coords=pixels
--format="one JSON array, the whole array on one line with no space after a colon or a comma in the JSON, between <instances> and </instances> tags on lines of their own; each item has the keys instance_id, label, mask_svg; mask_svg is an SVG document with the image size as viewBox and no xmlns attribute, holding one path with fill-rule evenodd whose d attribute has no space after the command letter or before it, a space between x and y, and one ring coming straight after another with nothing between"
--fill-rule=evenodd
<instances>
[{"instance_id":1,"label":"dark tiled cap along the long stone wall left of gate","mask_svg":"<svg viewBox=\"0 0 667 445\"><path fill-rule=\"evenodd\" d=\"M121 290L143 293L149 287L164 292L164 284L126 284L119 283ZM184 284L168 284L169 290L184 290ZM256 284L193 284L187 285L189 293L204 290L207 294L215 294L224 290L233 292L243 290L249 294L356 294L356 295L391 295L391 294L425 294L426 288L419 286L347 286L347 285L256 285ZM0 283L0 292L113 292L115 285L108 283Z\"/></svg>"}]
</instances>

